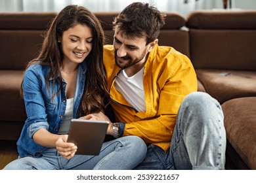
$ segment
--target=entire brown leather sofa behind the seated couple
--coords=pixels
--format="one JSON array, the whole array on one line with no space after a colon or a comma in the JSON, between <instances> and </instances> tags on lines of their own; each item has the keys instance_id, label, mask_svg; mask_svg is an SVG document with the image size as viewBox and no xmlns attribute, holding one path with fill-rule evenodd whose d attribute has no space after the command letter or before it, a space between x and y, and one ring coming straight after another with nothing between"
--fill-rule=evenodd
<instances>
[{"instance_id":1,"label":"entire brown leather sofa behind the seated couple","mask_svg":"<svg viewBox=\"0 0 256 183\"><path fill-rule=\"evenodd\" d=\"M118 12L95 12L106 44ZM26 112L19 88L26 63L38 54L56 12L0 13L0 169L16 159L15 142ZM226 127L226 169L256 169L256 11L168 12L160 45L188 56L198 76L198 91L217 99Z\"/></svg>"}]
</instances>

